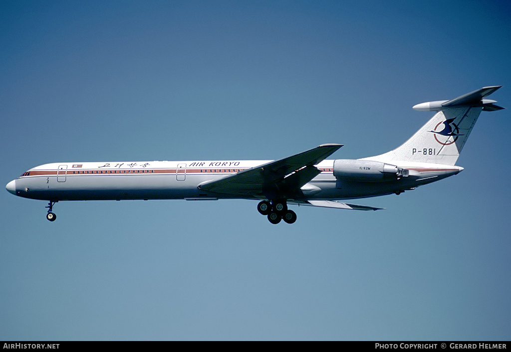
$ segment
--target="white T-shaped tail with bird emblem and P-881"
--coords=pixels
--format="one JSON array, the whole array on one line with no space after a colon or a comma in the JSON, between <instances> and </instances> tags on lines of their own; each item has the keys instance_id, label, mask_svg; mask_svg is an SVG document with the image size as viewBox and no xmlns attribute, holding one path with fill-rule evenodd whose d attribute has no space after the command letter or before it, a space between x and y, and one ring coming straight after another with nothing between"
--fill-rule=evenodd
<instances>
[{"instance_id":1,"label":"white T-shaped tail with bird emblem and P-881","mask_svg":"<svg viewBox=\"0 0 511 352\"><path fill-rule=\"evenodd\" d=\"M500 87L483 87L451 100L415 105L414 110L437 113L400 147L364 159L455 165L481 111L504 109L495 105L496 100L485 99Z\"/></svg>"}]
</instances>

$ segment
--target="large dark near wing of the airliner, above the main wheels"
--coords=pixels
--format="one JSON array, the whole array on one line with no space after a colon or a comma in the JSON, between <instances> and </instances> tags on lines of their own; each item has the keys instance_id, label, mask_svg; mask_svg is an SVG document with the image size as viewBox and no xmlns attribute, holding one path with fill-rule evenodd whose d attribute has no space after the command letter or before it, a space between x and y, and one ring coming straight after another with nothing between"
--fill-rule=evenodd
<instances>
[{"instance_id":1,"label":"large dark near wing of the airliner, above the main wheels","mask_svg":"<svg viewBox=\"0 0 511 352\"><path fill-rule=\"evenodd\" d=\"M284 159L240 171L217 181L199 185L205 191L216 193L267 197L273 193L295 192L321 171L314 165L332 155L342 144L321 144Z\"/></svg>"}]
</instances>

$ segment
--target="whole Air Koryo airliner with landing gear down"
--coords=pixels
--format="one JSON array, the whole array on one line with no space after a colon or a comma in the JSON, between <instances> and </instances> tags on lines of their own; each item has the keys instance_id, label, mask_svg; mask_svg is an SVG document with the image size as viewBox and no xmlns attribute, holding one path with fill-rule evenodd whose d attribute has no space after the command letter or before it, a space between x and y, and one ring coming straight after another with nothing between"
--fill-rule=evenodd
<instances>
[{"instance_id":1,"label":"whole Air Koryo airliner with landing gear down","mask_svg":"<svg viewBox=\"0 0 511 352\"><path fill-rule=\"evenodd\" d=\"M504 109L485 98L500 87L415 105L436 114L404 144L374 157L326 160L342 144L321 144L274 161L61 162L33 167L6 189L48 200L50 221L62 200L257 199L273 224L296 221L288 205L380 210L339 200L400 194L462 171L455 164L481 111Z\"/></svg>"}]
</instances>

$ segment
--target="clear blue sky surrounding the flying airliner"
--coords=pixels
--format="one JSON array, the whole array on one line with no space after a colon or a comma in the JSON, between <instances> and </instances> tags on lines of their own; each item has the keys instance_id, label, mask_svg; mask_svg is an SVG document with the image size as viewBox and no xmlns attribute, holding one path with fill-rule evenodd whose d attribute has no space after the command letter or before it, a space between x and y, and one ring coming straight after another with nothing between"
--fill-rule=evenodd
<instances>
[{"instance_id":1,"label":"clear blue sky surrounding the flying airliner","mask_svg":"<svg viewBox=\"0 0 511 352\"><path fill-rule=\"evenodd\" d=\"M505 1L0 3L4 184L50 162L363 158L487 85ZM509 340L509 110L378 212L0 192L2 340Z\"/></svg>"}]
</instances>

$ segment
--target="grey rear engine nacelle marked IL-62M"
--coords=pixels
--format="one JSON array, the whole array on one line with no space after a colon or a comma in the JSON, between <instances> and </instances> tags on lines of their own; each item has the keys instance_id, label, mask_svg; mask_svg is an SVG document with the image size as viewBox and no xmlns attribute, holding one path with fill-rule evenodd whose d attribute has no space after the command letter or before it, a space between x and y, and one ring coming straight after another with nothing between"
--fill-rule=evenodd
<instances>
[{"instance_id":1,"label":"grey rear engine nacelle marked IL-62M","mask_svg":"<svg viewBox=\"0 0 511 352\"><path fill-rule=\"evenodd\" d=\"M396 181L408 177L408 170L370 160L334 160L334 176L359 182Z\"/></svg>"}]
</instances>

